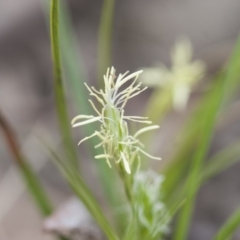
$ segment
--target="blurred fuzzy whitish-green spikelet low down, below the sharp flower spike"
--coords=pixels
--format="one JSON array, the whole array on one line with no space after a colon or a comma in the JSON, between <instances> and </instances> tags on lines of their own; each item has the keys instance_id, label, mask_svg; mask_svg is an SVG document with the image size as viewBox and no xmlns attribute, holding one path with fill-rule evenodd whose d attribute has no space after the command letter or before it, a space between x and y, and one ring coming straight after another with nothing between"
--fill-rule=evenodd
<instances>
[{"instance_id":1,"label":"blurred fuzzy whitish-green spikelet low down, below the sharp flower spike","mask_svg":"<svg viewBox=\"0 0 240 240\"><path fill-rule=\"evenodd\" d=\"M137 172L134 176L134 208L142 231L153 239L168 232L170 214L161 198L164 177L152 170ZM152 239L152 238L151 238Z\"/></svg>"}]
</instances>

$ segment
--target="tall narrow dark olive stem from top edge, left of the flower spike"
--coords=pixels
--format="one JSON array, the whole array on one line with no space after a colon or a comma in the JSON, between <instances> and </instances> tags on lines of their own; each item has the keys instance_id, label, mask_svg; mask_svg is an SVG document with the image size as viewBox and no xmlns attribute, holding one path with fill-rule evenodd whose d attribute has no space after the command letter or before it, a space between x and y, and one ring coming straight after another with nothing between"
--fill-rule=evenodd
<instances>
[{"instance_id":1,"label":"tall narrow dark olive stem from top edge, left of the flower spike","mask_svg":"<svg viewBox=\"0 0 240 240\"><path fill-rule=\"evenodd\" d=\"M72 167L77 167L77 154L71 137L70 122L67 113L67 104L62 81L62 68L59 44L59 0L52 0L50 11L51 48L54 68L54 94L60 130L63 138L66 155Z\"/></svg>"}]
</instances>

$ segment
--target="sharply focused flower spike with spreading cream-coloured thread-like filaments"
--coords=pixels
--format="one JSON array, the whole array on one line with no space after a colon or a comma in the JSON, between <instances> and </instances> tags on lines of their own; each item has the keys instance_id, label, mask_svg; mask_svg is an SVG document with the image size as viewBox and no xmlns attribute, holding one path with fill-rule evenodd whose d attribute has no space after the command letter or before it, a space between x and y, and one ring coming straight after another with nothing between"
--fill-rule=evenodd
<instances>
[{"instance_id":1,"label":"sharply focused flower spike with spreading cream-coloured thread-like filaments","mask_svg":"<svg viewBox=\"0 0 240 240\"><path fill-rule=\"evenodd\" d=\"M95 158L106 159L110 167L111 162L115 161L117 164L121 164L128 174L131 173L132 163L135 160L140 160L139 153L149 158L160 160L160 158L153 157L142 150L143 145L137 138L140 134L157 129L159 126L147 126L137 131L134 135L130 135L126 120L145 124L151 124L151 121L148 121L145 117L124 115L124 107L127 101L146 89L146 87L141 89L141 83L137 82L137 78L141 72L138 71L130 75L126 72L120 74L116 79L115 69L113 67L111 70L108 69L106 75L104 75L104 91L102 89L98 91L85 83L90 95L96 98L102 109L99 111L95 104L89 100L97 116L79 115L72 120L73 127L99 121L101 123L100 131L95 131L92 135L85 137L79 144L98 136L101 142L95 147L103 147L103 154L97 155ZM130 80L133 80L131 84L125 89L120 90Z\"/></svg>"}]
</instances>

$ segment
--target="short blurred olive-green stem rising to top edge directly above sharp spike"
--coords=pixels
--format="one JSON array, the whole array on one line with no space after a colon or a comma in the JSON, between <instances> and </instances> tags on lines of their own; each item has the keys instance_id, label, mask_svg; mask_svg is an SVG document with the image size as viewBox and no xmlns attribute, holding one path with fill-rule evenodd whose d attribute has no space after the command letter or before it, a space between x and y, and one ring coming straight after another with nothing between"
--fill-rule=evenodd
<instances>
[{"instance_id":1,"label":"short blurred olive-green stem rising to top edge directly above sharp spike","mask_svg":"<svg viewBox=\"0 0 240 240\"><path fill-rule=\"evenodd\" d=\"M98 81L102 86L103 74L111 67L112 26L115 0L104 0L98 34Z\"/></svg>"}]
</instances>

